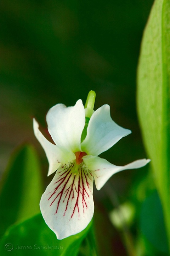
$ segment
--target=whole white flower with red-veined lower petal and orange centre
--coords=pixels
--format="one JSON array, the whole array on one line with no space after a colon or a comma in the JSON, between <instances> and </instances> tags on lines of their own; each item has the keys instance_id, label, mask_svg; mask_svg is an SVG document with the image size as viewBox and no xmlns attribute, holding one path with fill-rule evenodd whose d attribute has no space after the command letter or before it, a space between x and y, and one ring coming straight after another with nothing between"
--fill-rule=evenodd
<instances>
[{"instance_id":1,"label":"whole white flower with red-veined lower petal and orange centre","mask_svg":"<svg viewBox=\"0 0 170 256\"><path fill-rule=\"evenodd\" d=\"M46 116L49 142L39 130L36 120L34 133L49 161L48 175L56 174L41 197L40 209L46 224L58 239L74 235L86 228L94 214L93 181L100 190L116 172L145 166L142 159L125 166L115 166L98 157L131 131L118 126L110 116L110 108L103 105L92 113L87 135L85 108L81 100L75 106L57 104Z\"/></svg>"}]
</instances>

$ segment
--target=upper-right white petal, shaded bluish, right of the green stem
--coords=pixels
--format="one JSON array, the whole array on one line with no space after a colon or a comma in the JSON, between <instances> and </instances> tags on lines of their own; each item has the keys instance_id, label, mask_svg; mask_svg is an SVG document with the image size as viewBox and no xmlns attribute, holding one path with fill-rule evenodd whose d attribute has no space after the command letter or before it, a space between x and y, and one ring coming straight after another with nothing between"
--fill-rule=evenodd
<instances>
[{"instance_id":1,"label":"upper-right white petal, shaded bluish, right of the green stem","mask_svg":"<svg viewBox=\"0 0 170 256\"><path fill-rule=\"evenodd\" d=\"M112 120L109 105L103 105L92 114L81 149L87 155L99 155L130 133Z\"/></svg>"}]
</instances>

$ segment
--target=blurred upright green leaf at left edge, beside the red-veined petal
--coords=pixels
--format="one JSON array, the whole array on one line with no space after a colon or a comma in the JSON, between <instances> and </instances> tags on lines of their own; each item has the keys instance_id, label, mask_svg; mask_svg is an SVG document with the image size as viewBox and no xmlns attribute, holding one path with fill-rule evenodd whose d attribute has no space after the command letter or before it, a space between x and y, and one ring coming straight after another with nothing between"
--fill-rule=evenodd
<instances>
[{"instance_id":1,"label":"blurred upright green leaf at left edge, beside the red-veined petal","mask_svg":"<svg viewBox=\"0 0 170 256\"><path fill-rule=\"evenodd\" d=\"M36 152L31 145L15 151L1 180L1 235L11 224L40 211L41 174Z\"/></svg>"}]
</instances>

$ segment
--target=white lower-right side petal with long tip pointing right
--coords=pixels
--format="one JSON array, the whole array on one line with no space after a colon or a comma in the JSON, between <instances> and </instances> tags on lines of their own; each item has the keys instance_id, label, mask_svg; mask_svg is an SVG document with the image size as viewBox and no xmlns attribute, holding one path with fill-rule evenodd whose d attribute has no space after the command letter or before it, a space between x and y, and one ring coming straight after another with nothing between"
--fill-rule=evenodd
<instances>
[{"instance_id":1,"label":"white lower-right side petal with long tip pointing right","mask_svg":"<svg viewBox=\"0 0 170 256\"><path fill-rule=\"evenodd\" d=\"M136 160L125 166L113 165L98 156L84 156L83 161L90 171L94 171L96 188L100 190L113 174L123 170L143 167L150 162L150 159Z\"/></svg>"}]
</instances>

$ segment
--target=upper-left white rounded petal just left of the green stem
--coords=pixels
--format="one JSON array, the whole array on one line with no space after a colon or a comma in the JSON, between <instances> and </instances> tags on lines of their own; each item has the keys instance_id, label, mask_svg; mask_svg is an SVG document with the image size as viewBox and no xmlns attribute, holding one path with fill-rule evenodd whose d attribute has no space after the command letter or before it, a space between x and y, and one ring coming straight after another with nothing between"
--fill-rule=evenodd
<instances>
[{"instance_id":1,"label":"upper-left white rounded petal just left of the green stem","mask_svg":"<svg viewBox=\"0 0 170 256\"><path fill-rule=\"evenodd\" d=\"M46 116L48 130L56 145L72 152L81 151L81 133L85 126L85 110L81 100L74 107L57 104Z\"/></svg>"}]
</instances>

